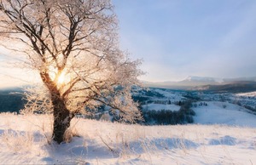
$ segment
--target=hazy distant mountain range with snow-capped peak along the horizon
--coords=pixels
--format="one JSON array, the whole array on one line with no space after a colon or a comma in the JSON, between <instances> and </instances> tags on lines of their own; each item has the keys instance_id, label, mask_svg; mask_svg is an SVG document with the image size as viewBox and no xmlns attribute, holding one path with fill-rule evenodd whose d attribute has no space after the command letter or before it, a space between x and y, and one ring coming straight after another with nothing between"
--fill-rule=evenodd
<instances>
[{"instance_id":1,"label":"hazy distant mountain range with snow-capped peak along the horizon","mask_svg":"<svg viewBox=\"0 0 256 165\"><path fill-rule=\"evenodd\" d=\"M213 78L213 77L187 77L179 82L143 82L146 87L173 88L187 90L208 91L255 91L256 77Z\"/></svg>"}]
</instances>

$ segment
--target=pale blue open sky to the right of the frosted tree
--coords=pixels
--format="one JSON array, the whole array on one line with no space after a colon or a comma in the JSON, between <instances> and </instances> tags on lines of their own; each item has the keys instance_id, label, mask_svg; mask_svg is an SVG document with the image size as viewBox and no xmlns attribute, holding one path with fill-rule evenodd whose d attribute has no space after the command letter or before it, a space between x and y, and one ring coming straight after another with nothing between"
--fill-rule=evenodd
<instances>
[{"instance_id":1,"label":"pale blue open sky to the right of the frosted tree","mask_svg":"<svg viewBox=\"0 0 256 165\"><path fill-rule=\"evenodd\" d=\"M113 0L120 46L147 81L256 76L256 1Z\"/></svg>"}]
</instances>

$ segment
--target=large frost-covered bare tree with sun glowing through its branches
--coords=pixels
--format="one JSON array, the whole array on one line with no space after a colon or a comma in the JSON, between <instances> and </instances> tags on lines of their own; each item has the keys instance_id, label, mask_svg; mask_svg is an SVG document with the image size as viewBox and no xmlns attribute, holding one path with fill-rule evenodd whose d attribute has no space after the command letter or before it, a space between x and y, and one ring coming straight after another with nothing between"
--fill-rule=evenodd
<instances>
[{"instance_id":1,"label":"large frost-covered bare tree with sun glowing through its branches","mask_svg":"<svg viewBox=\"0 0 256 165\"><path fill-rule=\"evenodd\" d=\"M38 71L56 142L76 113L99 105L128 122L141 117L130 94L140 61L119 49L117 28L110 0L0 0L0 43Z\"/></svg>"}]
</instances>

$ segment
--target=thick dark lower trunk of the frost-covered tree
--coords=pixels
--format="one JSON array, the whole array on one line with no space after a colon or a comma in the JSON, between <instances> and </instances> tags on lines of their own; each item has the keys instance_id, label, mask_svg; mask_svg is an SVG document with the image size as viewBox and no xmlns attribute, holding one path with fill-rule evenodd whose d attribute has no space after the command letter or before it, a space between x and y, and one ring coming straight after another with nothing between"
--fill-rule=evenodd
<instances>
[{"instance_id":1,"label":"thick dark lower trunk of the frost-covered tree","mask_svg":"<svg viewBox=\"0 0 256 165\"><path fill-rule=\"evenodd\" d=\"M59 94L52 94L51 98L54 106L54 129L52 137L60 144L65 140L64 134L70 126L73 114L67 110L65 101L61 99Z\"/></svg>"}]
</instances>

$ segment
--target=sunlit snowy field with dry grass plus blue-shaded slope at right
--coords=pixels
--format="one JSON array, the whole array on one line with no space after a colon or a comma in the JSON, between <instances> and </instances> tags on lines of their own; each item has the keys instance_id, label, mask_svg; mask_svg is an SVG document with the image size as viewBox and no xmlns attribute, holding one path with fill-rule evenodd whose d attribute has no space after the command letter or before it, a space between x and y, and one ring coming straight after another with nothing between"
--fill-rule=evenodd
<instances>
[{"instance_id":1,"label":"sunlit snowy field with dry grass plus blue-shaded slope at right","mask_svg":"<svg viewBox=\"0 0 256 165\"><path fill-rule=\"evenodd\" d=\"M195 111L197 124L176 126L75 118L61 145L52 117L0 114L0 164L256 164L256 116L220 102Z\"/></svg>"}]
</instances>

